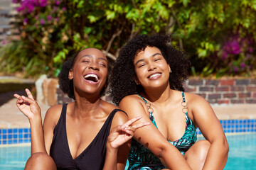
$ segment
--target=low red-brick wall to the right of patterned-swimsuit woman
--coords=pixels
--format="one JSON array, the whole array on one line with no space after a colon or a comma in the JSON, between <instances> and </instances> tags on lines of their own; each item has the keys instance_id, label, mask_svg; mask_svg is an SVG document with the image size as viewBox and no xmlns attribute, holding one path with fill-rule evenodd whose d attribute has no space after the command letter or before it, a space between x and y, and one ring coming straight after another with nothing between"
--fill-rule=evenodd
<instances>
[{"instance_id":1,"label":"low red-brick wall to the right of patterned-swimsuit woman","mask_svg":"<svg viewBox=\"0 0 256 170\"><path fill-rule=\"evenodd\" d=\"M189 79L184 86L211 104L256 103L256 79Z\"/></svg>"}]
</instances>

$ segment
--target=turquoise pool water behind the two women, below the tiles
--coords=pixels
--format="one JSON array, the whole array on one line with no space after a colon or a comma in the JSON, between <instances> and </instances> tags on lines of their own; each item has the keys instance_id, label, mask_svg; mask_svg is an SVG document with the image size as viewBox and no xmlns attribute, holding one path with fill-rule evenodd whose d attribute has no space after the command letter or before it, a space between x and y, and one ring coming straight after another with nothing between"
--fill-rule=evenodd
<instances>
[{"instance_id":1,"label":"turquoise pool water behind the two women, below the tiles","mask_svg":"<svg viewBox=\"0 0 256 170\"><path fill-rule=\"evenodd\" d=\"M256 169L256 133L228 135L227 139L230 152L224 170ZM24 169L30 154L30 146L0 147L0 170Z\"/></svg>"}]
</instances>

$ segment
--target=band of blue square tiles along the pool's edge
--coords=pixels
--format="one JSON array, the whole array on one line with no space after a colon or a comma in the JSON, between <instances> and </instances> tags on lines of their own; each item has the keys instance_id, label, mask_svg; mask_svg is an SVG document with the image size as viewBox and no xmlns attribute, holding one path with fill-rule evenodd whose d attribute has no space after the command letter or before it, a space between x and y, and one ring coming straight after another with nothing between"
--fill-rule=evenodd
<instances>
[{"instance_id":1,"label":"band of blue square tiles along the pool's edge","mask_svg":"<svg viewBox=\"0 0 256 170\"><path fill-rule=\"evenodd\" d=\"M256 132L256 119L220 120L225 133ZM200 130L196 129L198 135ZM31 142L30 128L0 129L0 145Z\"/></svg>"}]
</instances>

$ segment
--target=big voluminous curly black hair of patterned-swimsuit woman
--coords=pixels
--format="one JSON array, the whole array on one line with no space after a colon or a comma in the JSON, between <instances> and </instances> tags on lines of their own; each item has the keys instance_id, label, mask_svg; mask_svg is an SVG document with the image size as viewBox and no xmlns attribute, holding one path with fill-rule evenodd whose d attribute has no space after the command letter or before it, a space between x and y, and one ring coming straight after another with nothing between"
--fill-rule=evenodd
<instances>
[{"instance_id":1,"label":"big voluminous curly black hair of patterned-swimsuit woman","mask_svg":"<svg viewBox=\"0 0 256 170\"><path fill-rule=\"evenodd\" d=\"M183 81L188 79L188 69L191 67L186 52L171 45L170 35L137 35L124 45L117 57L110 76L110 96L113 103L119 102L125 96L139 94L144 91L141 85L134 81L134 57L146 47L157 47L170 65L172 73L169 77L170 88L184 91Z\"/></svg>"}]
</instances>

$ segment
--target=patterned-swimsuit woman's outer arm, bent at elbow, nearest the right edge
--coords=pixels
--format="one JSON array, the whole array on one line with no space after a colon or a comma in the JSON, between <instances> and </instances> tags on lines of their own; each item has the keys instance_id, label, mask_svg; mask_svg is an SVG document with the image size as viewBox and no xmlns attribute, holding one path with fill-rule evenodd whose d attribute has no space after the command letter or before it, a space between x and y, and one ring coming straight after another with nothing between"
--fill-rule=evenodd
<instances>
[{"instance_id":1,"label":"patterned-swimsuit woman's outer arm, bent at elbow, nearest the right edge","mask_svg":"<svg viewBox=\"0 0 256 170\"><path fill-rule=\"evenodd\" d=\"M195 94L192 94L191 97L193 99L188 101L188 108L191 108L196 126L210 142L210 149L203 169L224 169L228 160L229 148L220 121L208 101Z\"/></svg>"}]
</instances>

